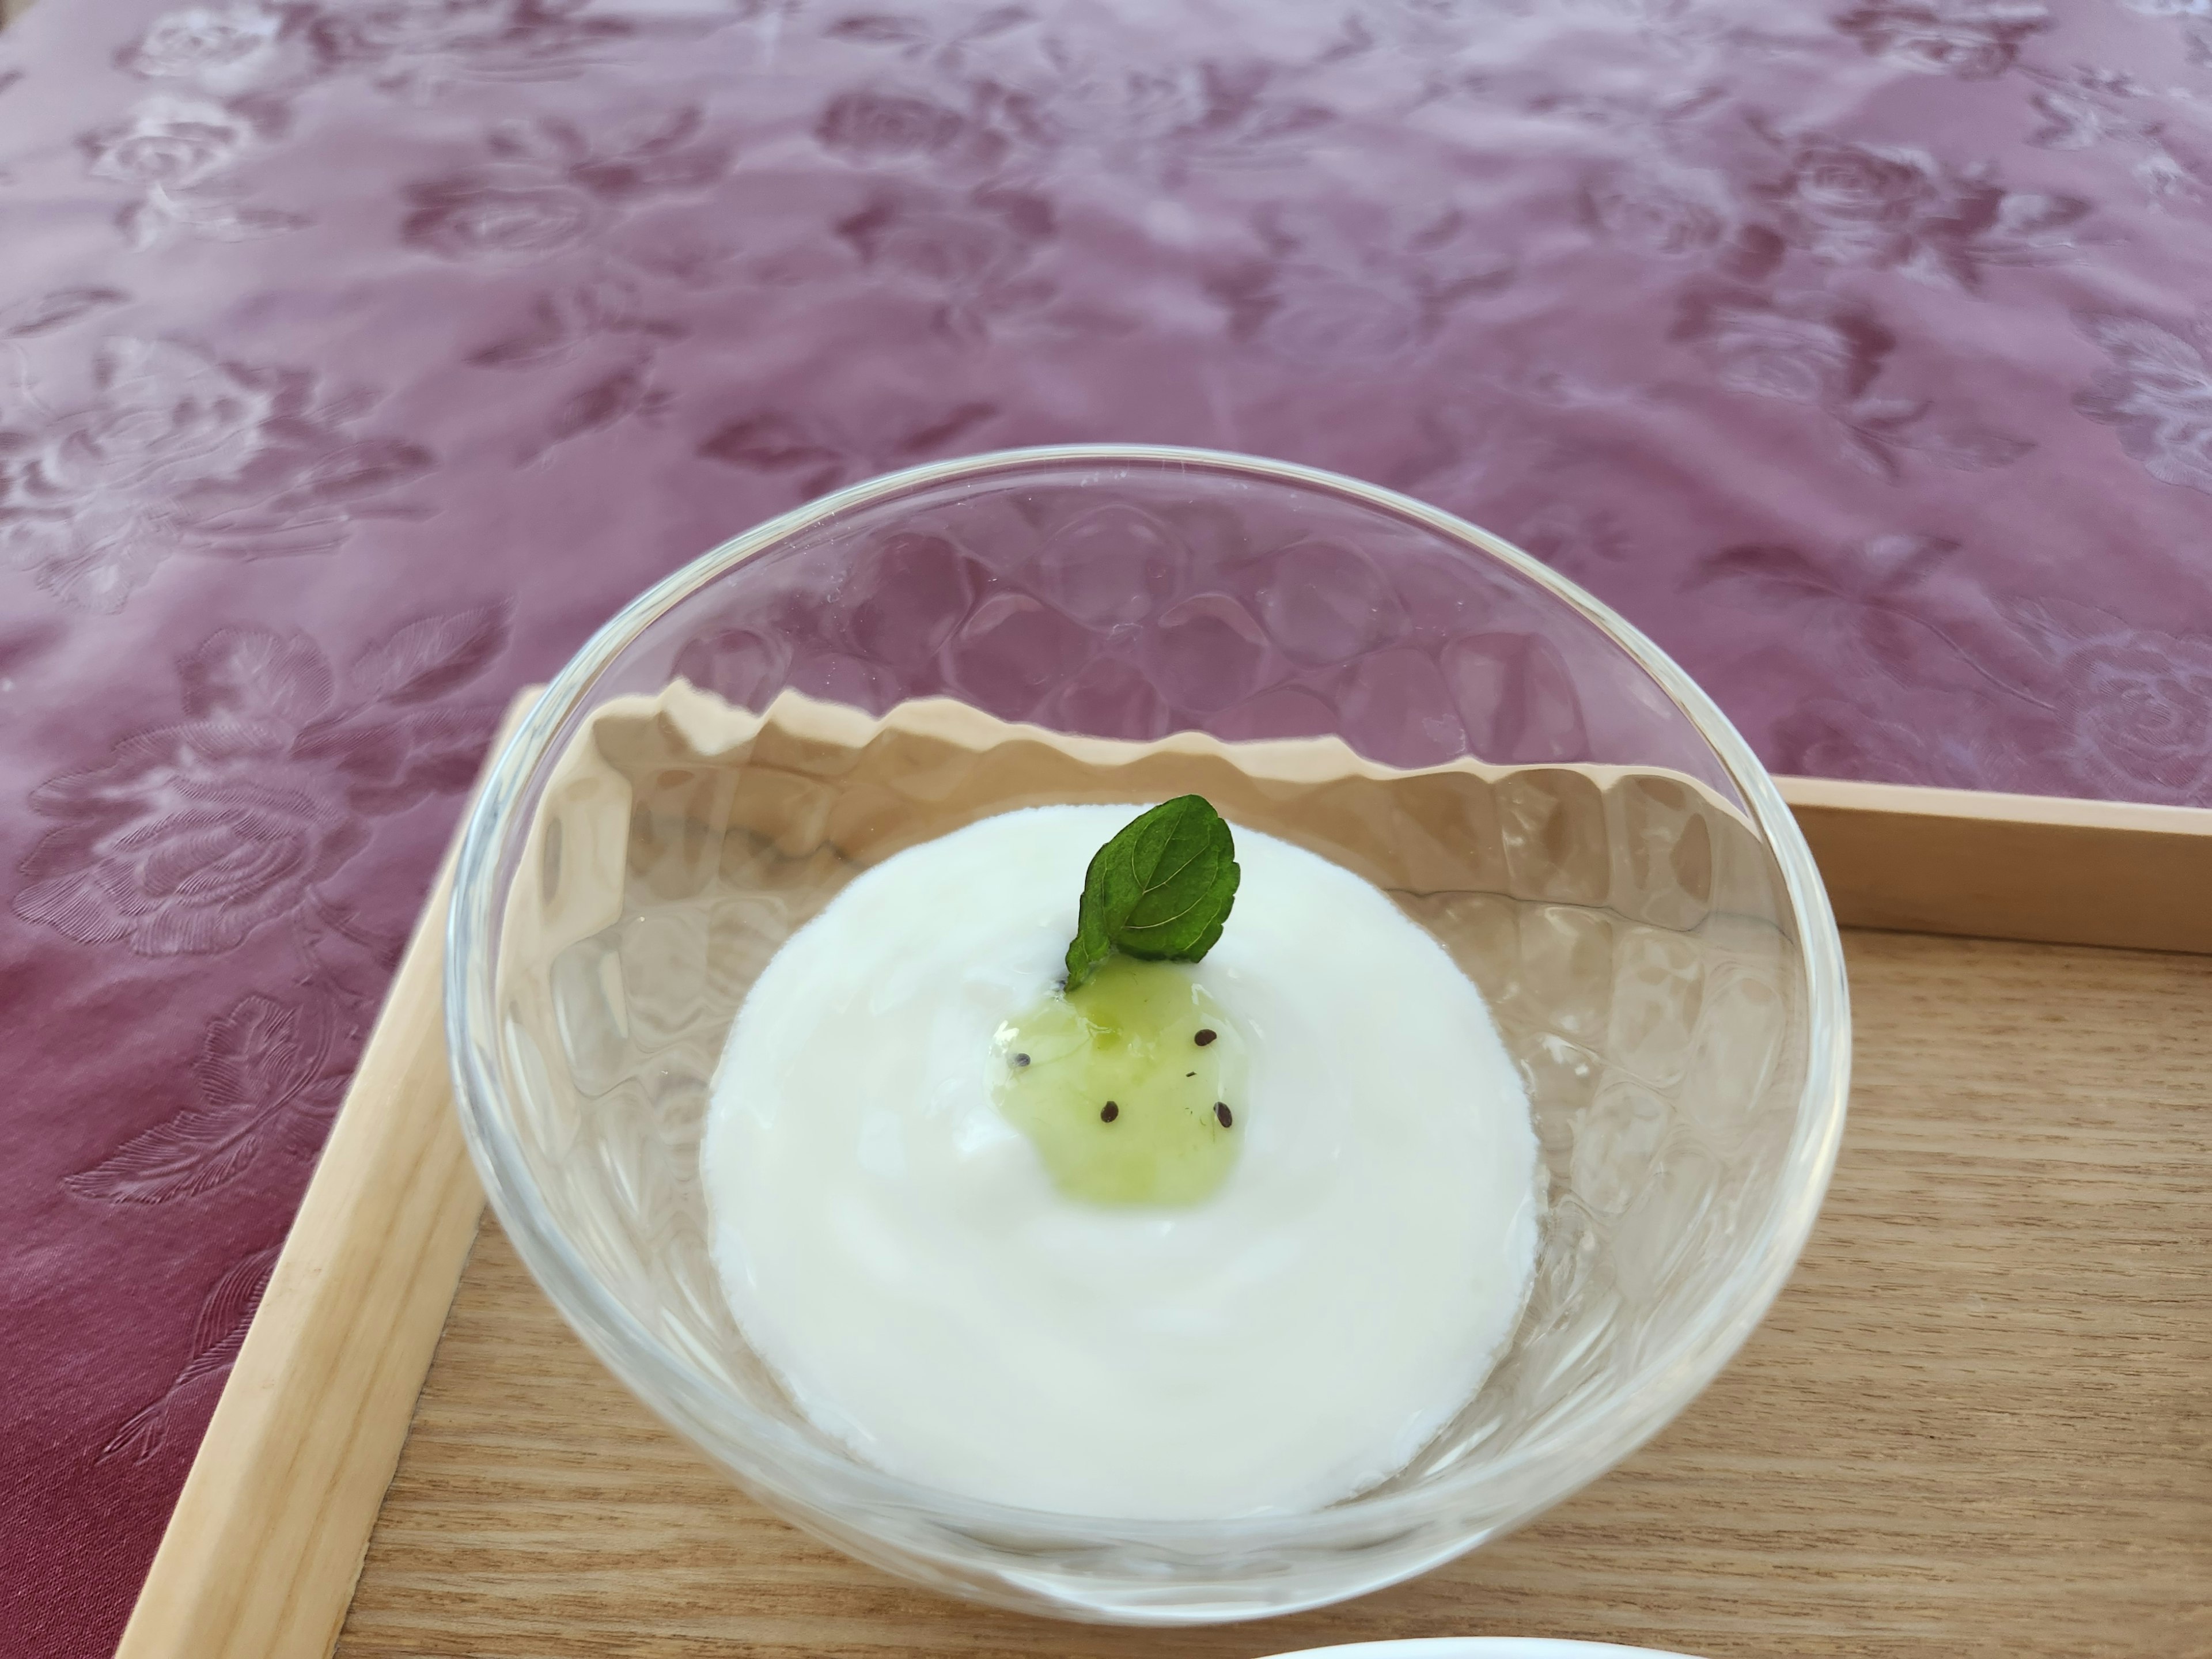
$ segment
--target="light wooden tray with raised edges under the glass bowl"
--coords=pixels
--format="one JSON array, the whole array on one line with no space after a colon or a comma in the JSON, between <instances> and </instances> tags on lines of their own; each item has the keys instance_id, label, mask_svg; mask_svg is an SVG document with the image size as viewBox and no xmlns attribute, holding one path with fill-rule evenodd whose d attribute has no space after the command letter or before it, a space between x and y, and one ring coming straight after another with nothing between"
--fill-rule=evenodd
<instances>
[{"instance_id":1,"label":"light wooden tray with raised edges under the glass bowl","mask_svg":"<svg viewBox=\"0 0 2212 1659\"><path fill-rule=\"evenodd\" d=\"M478 1232L440 876L122 1659L2212 1652L2212 812L1783 787L1838 918L1911 931L1847 933L1851 1124L1765 1325L1513 1537L1214 1630L905 1588L637 1405Z\"/></svg>"}]
</instances>

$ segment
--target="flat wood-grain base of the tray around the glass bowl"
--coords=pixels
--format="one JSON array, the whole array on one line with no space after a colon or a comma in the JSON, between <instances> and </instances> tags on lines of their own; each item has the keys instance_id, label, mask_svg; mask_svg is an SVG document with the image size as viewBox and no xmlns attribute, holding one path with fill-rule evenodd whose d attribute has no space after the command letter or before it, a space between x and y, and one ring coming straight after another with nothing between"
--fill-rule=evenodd
<instances>
[{"instance_id":1,"label":"flat wood-grain base of the tray around the glass bowl","mask_svg":"<svg viewBox=\"0 0 2212 1659\"><path fill-rule=\"evenodd\" d=\"M1851 1128L1790 1290L1659 1440L1489 1551L1192 1632L907 1590L730 1489L487 1225L338 1655L2212 1652L2212 960L1898 933L1849 956Z\"/></svg>"}]
</instances>

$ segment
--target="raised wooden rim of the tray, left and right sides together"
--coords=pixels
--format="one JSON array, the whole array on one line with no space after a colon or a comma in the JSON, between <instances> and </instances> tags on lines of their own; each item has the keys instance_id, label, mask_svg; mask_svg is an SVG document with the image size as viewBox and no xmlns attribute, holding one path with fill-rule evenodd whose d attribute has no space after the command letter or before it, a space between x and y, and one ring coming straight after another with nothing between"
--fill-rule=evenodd
<instances>
[{"instance_id":1,"label":"raised wooden rim of the tray, left and right sides together","mask_svg":"<svg viewBox=\"0 0 2212 1659\"><path fill-rule=\"evenodd\" d=\"M529 690L509 708L500 741L533 699ZM1778 783L1845 927L2212 953L2212 812ZM449 854L117 1659L279 1659L336 1644L482 1214L445 1055L451 863ZM392 1250L400 1239L418 1245Z\"/></svg>"}]
</instances>

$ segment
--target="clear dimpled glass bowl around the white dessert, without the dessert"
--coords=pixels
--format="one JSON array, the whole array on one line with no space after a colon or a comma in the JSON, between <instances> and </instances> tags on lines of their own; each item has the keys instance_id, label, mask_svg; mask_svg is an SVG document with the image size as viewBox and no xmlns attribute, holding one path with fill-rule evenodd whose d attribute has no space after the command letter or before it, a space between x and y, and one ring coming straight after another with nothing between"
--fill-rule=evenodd
<instances>
[{"instance_id":1,"label":"clear dimpled glass bowl around the white dessert, without the dessert","mask_svg":"<svg viewBox=\"0 0 2212 1659\"><path fill-rule=\"evenodd\" d=\"M1396 841L1413 852L1394 896L1484 989L1528 1079L1548 1194L1506 1356L1407 1471L1314 1513L1110 1522L896 1480L799 1416L721 1298L699 1137L752 973L854 872L836 825L872 807L838 765L799 776L754 757L708 776L681 743L670 759L666 721L604 723L615 699L679 679L732 710L785 688L869 714L940 697L1060 737L1203 732L1232 757L1336 737L1376 772L1444 776L1444 814ZM562 801L606 787L564 781L580 734L615 757L617 807L564 821ZM991 776L964 774L987 796ZM763 836L748 812L776 790L787 805ZM1321 805L1305 834L1305 796L1279 814L1276 834L1336 845ZM549 931L593 860L613 898ZM858 484L630 604L491 768L447 984L491 1203L624 1383L860 1559L1128 1624L1360 1595L1626 1458L1790 1274L1849 1066L1843 958L1805 843L1743 739L1644 635L1391 491L1146 447Z\"/></svg>"}]
</instances>

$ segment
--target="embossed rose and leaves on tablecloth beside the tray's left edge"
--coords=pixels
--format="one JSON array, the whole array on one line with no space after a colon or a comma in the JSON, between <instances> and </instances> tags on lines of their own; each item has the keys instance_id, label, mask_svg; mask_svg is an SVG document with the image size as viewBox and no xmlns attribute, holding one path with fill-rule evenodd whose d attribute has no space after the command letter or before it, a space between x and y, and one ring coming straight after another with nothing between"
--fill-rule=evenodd
<instances>
[{"instance_id":1,"label":"embossed rose and leaves on tablecloth beside the tray's left edge","mask_svg":"<svg viewBox=\"0 0 2212 1659\"><path fill-rule=\"evenodd\" d=\"M66 1175L69 1194L184 1203L270 1152L305 1161L321 1148L403 942L327 883L367 843L367 821L467 787L495 708L451 697L504 644L504 606L434 615L341 677L305 635L226 628L179 661L184 721L133 732L106 765L33 792L60 827L24 858L24 920L155 958L221 956L283 927L296 956L290 987L250 991L206 1026L192 1097ZM184 1369L102 1460L159 1451L179 1398L237 1356L272 1259L257 1252L217 1281L208 1310L226 1285L243 1301L223 1318L204 1310Z\"/></svg>"}]
</instances>

